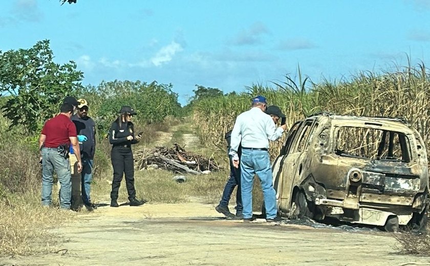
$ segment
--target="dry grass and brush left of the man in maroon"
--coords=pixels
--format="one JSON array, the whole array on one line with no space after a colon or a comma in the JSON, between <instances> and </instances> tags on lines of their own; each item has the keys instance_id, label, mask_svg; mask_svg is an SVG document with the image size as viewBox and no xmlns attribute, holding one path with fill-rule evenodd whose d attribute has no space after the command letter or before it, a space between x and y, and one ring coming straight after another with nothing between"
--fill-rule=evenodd
<instances>
[{"instance_id":1,"label":"dry grass and brush left of the man in maroon","mask_svg":"<svg viewBox=\"0 0 430 266\"><path fill-rule=\"evenodd\" d=\"M0 255L51 251L58 240L47 228L72 213L41 207L36 138L19 135L19 128L7 130L7 125L0 117ZM55 196L54 202L58 205Z\"/></svg>"}]
</instances>

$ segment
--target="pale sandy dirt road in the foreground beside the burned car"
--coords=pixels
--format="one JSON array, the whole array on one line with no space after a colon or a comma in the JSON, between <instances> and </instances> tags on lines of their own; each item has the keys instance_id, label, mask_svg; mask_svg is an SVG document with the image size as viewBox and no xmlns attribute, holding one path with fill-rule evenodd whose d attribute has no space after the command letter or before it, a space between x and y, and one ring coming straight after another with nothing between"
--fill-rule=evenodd
<instances>
[{"instance_id":1,"label":"pale sandy dirt road in the foreground beside the burned car","mask_svg":"<svg viewBox=\"0 0 430 266\"><path fill-rule=\"evenodd\" d=\"M0 258L0 265L425 265L397 255L388 233L226 220L213 205L99 207L52 229L58 253ZM417 263L417 264L408 264Z\"/></svg>"}]
</instances>

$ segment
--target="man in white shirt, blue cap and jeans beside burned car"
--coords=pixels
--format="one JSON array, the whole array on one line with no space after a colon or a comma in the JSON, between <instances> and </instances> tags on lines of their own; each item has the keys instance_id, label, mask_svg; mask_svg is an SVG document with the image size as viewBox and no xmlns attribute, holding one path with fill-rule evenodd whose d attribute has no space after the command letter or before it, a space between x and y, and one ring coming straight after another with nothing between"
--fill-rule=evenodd
<instances>
[{"instance_id":1,"label":"man in white shirt, blue cap and jeans beside burned car","mask_svg":"<svg viewBox=\"0 0 430 266\"><path fill-rule=\"evenodd\" d=\"M267 107L266 98L256 96L252 100L250 110L236 118L231 132L230 155L233 166L242 169L241 190L244 221L253 221L252 216L252 186L254 175L257 174L263 189L266 206L266 220L280 221L276 216L276 193L272 184L272 168L269 156L269 140L275 141L282 137L286 125L276 128L272 118L264 113ZM238 149L242 145L242 156L239 160Z\"/></svg>"}]
</instances>

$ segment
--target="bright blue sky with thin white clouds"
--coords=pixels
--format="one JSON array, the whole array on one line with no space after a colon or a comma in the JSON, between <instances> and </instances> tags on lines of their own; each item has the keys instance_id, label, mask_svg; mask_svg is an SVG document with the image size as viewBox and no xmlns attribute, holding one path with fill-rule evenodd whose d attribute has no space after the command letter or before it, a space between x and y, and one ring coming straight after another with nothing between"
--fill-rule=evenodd
<instances>
[{"instance_id":1,"label":"bright blue sky with thin white clouds","mask_svg":"<svg viewBox=\"0 0 430 266\"><path fill-rule=\"evenodd\" d=\"M83 84L172 83L185 104L196 84L225 93L302 74L314 82L390 70L430 57L430 0L3 0L0 50L49 39Z\"/></svg>"}]
</instances>

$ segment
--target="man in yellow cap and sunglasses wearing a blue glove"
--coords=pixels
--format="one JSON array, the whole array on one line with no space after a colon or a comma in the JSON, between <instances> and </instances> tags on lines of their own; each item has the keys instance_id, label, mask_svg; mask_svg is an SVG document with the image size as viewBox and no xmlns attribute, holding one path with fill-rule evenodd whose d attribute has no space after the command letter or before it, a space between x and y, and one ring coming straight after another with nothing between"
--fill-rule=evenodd
<instances>
[{"instance_id":1,"label":"man in yellow cap and sunglasses wearing a blue glove","mask_svg":"<svg viewBox=\"0 0 430 266\"><path fill-rule=\"evenodd\" d=\"M82 172L72 169L72 209L79 209L81 203L89 211L96 206L91 202L91 181L93 180L93 162L96 151L96 124L88 116L88 102L85 99L78 100L77 114L72 117L76 125L77 135L82 136L79 141L82 156ZM73 158L73 157L71 157ZM73 166L74 163L71 162ZM80 201L82 198L82 202Z\"/></svg>"}]
</instances>

